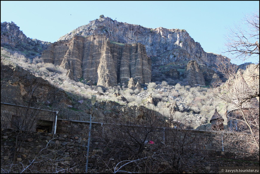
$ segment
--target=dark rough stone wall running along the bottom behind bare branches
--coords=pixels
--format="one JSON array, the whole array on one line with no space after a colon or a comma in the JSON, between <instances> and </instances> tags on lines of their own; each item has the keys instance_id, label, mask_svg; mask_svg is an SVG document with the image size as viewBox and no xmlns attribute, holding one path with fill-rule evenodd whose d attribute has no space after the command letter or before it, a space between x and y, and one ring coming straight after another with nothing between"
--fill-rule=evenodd
<instances>
[{"instance_id":1,"label":"dark rough stone wall running along the bottom behind bare branches","mask_svg":"<svg viewBox=\"0 0 260 174\"><path fill-rule=\"evenodd\" d=\"M63 122L65 124L69 123L66 121ZM61 168L68 169L68 172L84 173L86 166L86 157L84 154L86 154L87 138L88 136L85 135L78 136L44 132L29 132L29 134L24 137L25 143L22 145L22 148L15 159L15 164L23 163L26 166L26 164L29 164L30 161L36 159L35 162L38 163L34 163L28 169L37 170L40 173L47 173L46 171L48 170L48 172L53 173L56 171L54 168L58 168L57 166L59 166ZM12 158L15 150L15 140L15 130L1 129L1 169L4 169L8 165L12 164ZM44 149L48 142L48 148ZM91 140L89 153L90 158L88 161L90 172L105 171L110 173L111 170L105 170L106 166L103 160L107 160L107 162L109 161L108 167L113 169L113 167L115 167L118 163L118 160L128 159L127 154L121 154L118 156L118 159L115 157L112 159L110 156L115 154L106 152L107 149L104 147L105 146L103 146L103 143L100 140ZM154 147L156 148L156 146ZM149 148L146 150L148 149ZM147 153L149 152L153 153L153 150L148 150ZM189 164L189 161L187 161L186 165L188 168L183 170L182 173L219 173L219 170L221 170L222 167L259 167L259 161L246 161L253 160L250 158L238 160L238 154L206 149L201 149L200 154L201 156L195 157L198 158L195 162L193 161L193 163ZM166 164L161 162L158 167L163 167L164 165ZM17 166L19 166L19 164ZM131 164L130 166L128 165L128 167L131 168ZM128 167L125 169L127 170ZM142 170L144 172L144 169ZM165 170L164 172L172 173L172 170Z\"/></svg>"}]
</instances>

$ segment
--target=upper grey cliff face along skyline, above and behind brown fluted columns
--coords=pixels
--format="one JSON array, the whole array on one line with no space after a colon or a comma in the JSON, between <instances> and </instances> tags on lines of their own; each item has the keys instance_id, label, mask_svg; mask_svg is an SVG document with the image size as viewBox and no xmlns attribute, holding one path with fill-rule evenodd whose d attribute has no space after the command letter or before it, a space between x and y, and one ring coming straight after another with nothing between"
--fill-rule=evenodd
<instances>
[{"instance_id":1,"label":"upper grey cliff face along skyline, above and behind brown fluted columns","mask_svg":"<svg viewBox=\"0 0 260 174\"><path fill-rule=\"evenodd\" d=\"M83 25L59 40L68 40L77 36L103 34L106 38L120 43L141 43L146 47L149 57L154 57L154 65L165 65L178 60L196 60L209 66L214 66L216 57L213 53L206 53L200 43L195 42L186 30L166 28L145 28L117 22L109 17L101 17Z\"/></svg>"}]
</instances>

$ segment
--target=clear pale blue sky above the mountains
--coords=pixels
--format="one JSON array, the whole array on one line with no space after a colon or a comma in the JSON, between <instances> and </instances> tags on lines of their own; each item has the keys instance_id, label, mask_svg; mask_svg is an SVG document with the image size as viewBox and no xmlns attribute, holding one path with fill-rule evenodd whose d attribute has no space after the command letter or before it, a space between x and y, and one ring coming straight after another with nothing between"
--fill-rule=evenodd
<instances>
[{"instance_id":1,"label":"clear pale blue sky above the mountains","mask_svg":"<svg viewBox=\"0 0 260 174\"><path fill-rule=\"evenodd\" d=\"M224 54L224 36L257 10L259 1L1 1L1 22L13 21L27 37L52 43L100 15L146 28L185 29L204 51L239 65L244 62Z\"/></svg>"}]
</instances>

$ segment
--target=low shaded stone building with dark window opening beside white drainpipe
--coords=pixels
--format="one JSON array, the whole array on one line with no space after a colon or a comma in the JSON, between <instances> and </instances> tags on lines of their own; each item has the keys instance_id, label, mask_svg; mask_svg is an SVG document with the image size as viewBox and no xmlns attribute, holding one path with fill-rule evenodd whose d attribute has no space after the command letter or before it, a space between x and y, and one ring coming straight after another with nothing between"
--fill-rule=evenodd
<instances>
[{"instance_id":1,"label":"low shaded stone building with dark window opening beside white drainpipe","mask_svg":"<svg viewBox=\"0 0 260 174\"><path fill-rule=\"evenodd\" d=\"M1 103L1 128L56 133L58 111Z\"/></svg>"}]
</instances>

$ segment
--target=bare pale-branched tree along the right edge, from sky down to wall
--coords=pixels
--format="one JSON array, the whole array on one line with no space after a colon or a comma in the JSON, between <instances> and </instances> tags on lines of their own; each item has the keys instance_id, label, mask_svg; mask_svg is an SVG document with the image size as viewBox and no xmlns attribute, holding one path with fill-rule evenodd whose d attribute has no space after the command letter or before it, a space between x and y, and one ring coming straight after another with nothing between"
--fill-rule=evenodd
<instances>
[{"instance_id":1,"label":"bare pale-branched tree along the right edge, from sky down to wall","mask_svg":"<svg viewBox=\"0 0 260 174\"><path fill-rule=\"evenodd\" d=\"M246 60L259 57L259 15L253 14L245 19L250 30L245 32L236 27L231 30L227 52L236 55L236 59ZM248 66L246 70L223 58L219 58L218 71L227 79L221 86L212 88L214 97L225 103L228 111L228 130L218 131L218 142L222 139L225 151L243 152L244 155L256 155L259 159L259 62ZM218 84L220 85L220 84ZM236 130L233 131L232 123ZM241 132L236 132L238 129ZM230 132L231 131L231 132Z\"/></svg>"}]
</instances>

